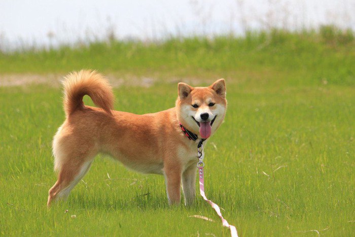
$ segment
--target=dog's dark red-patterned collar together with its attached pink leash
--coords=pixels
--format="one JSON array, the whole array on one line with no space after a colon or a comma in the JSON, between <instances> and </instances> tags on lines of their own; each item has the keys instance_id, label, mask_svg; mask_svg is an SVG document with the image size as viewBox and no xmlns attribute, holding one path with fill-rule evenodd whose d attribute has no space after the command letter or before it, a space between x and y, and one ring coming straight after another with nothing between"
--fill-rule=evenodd
<instances>
[{"instance_id":1,"label":"dog's dark red-patterned collar together with its attached pink leash","mask_svg":"<svg viewBox=\"0 0 355 237\"><path fill-rule=\"evenodd\" d=\"M180 127L181 127L181 130L183 130L183 132L185 133L185 135L189 138L189 140L196 141L198 139L197 134L195 134L192 131L189 131L188 129L186 129L181 123L180 123ZM215 209L217 215L222 220L223 226L228 227L230 229L231 236L232 237L238 237L237 229L235 228L235 226L234 225L230 225L228 223L228 221L223 218L220 207L217 204L215 204L215 202L209 200L206 197L205 193L204 193L204 171L203 171L203 167L204 167L203 157L204 157L204 154L203 154L202 150L203 150L203 142L205 140L206 139L201 139L200 142L197 145L197 158L198 158L197 168L198 168L198 178L199 178L199 183L200 183L200 194L203 197L203 199L205 201L207 201L208 204L211 205L211 207L213 209Z\"/></svg>"}]
</instances>

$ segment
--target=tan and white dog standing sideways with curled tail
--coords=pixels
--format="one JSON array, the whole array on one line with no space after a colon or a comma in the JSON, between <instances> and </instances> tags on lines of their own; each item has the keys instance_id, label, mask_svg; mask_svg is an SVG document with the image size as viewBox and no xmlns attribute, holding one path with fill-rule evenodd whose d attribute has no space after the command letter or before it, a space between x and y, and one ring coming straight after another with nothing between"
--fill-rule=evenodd
<instances>
[{"instance_id":1,"label":"tan and white dog standing sideways with curled tail","mask_svg":"<svg viewBox=\"0 0 355 237\"><path fill-rule=\"evenodd\" d=\"M53 140L58 180L49 190L48 206L68 196L97 153L110 154L138 172L164 175L170 205L180 204L182 183L185 205L192 204L201 139L189 139L182 129L204 139L217 130L227 107L223 79L209 87L179 83L174 108L144 115L111 110L111 86L96 72L71 73L63 85L66 119ZM85 106L84 95L100 108Z\"/></svg>"}]
</instances>

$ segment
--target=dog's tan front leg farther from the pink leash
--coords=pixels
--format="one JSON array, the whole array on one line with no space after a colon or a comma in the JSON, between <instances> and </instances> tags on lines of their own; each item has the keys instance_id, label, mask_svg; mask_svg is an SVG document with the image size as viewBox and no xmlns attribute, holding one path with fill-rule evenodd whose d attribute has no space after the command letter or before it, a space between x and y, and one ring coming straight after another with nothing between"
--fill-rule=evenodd
<instances>
[{"instance_id":1,"label":"dog's tan front leg farther from the pink leash","mask_svg":"<svg viewBox=\"0 0 355 237\"><path fill-rule=\"evenodd\" d=\"M178 164L165 164L164 176L169 205L179 205L181 201L181 166Z\"/></svg>"}]
</instances>

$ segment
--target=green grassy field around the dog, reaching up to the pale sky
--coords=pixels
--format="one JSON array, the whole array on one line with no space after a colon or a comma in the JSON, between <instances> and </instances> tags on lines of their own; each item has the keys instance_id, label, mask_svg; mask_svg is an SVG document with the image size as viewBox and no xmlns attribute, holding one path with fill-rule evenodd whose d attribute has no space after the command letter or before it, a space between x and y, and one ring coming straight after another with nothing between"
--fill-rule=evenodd
<instances>
[{"instance_id":1,"label":"green grassy field around the dog, reaching up to the pale sky","mask_svg":"<svg viewBox=\"0 0 355 237\"><path fill-rule=\"evenodd\" d=\"M241 236L355 232L354 65L351 34L327 28L0 53L2 75L84 67L157 78L149 88L115 89L115 109L138 114L172 107L176 81L206 86L224 77L228 111L205 148L205 191ZM162 176L103 156L48 210L51 142L63 120L60 88L0 87L2 235L229 235L201 197L193 207L168 207Z\"/></svg>"}]
</instances>

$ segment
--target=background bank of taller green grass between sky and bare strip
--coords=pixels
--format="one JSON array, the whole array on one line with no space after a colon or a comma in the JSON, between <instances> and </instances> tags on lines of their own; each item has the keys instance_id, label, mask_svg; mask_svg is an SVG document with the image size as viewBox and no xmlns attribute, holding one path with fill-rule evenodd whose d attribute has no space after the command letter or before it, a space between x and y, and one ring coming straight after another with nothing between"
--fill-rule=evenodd
<instances>
[{"instance_id":1,"label":"background bank of taller green grass between sky and bare strip","mask_svg":"<svg viewBox=\"0 0 355 237\"><path fill-rule=\"evenodd\" d=\"M353 32L326 26L320 32L274 30L248 32L244 38L173 38L160 43L111 40L74 48L0 52L0 74L67 73L89 68L113 72L120 78L132 74L238 78L240 73L272 71L291 75L283 80L293 84L314 85L327 80L355 85L354 60Z\"/></svg>"}]
</instances>

